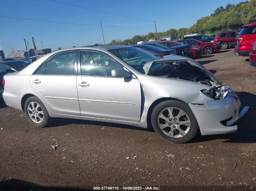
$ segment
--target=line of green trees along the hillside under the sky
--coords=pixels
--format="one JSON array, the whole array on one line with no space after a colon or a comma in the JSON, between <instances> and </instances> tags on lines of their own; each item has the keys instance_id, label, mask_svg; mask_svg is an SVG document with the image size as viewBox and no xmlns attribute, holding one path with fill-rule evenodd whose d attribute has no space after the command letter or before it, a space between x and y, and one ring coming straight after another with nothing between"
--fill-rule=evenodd
<instances>
[{"instance_id":1,"label":"line of green trees along the hillside under the sky","mask_svg":"<svg viewBox=\"0 0 256 191\"><path fill-rule=\"evenodd\" d=\"M186 34L217 34L223 30L240 30L245 24L256 21L256 0L240 2L238 4L218 7L210 16L201 17L189 28L169 29L165 32L158 32L158 37L173 35L175 39L183 38ZM155 33L149 32L146 35L135 35L131 39L112 40L107 45L136 44L139 41L156 38ZM98 45L98 44L95 44Z\"/></svg>"}]
</instances>

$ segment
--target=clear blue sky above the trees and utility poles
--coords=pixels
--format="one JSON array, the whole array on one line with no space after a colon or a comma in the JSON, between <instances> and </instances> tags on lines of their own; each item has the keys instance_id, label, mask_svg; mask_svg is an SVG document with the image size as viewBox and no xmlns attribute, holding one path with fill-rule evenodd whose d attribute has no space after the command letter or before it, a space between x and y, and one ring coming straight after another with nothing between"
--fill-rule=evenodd
<instances>
[{"instance_id":1,"label":"clear blue sky above the trees and utility poles","mask_svg":"<svg viewBox=\"0 0 256 191\"><path fill-rule=\"evenodd\" d=\"M0 0L0 15L7 17L28 18L35 20L103 25L105 43L113 39L129 39L136 34L154 32L153 22L156 21L159 32L170 28L192 26L199 18L208 16L217 7L228 3L239 3L241 0L183 0L158 1L147 0L56 0L63 3L78 5L91 9L128 15L150 21L108 14L49 0ZM37 49L72 46L86 46L101 43L102 35L99 26L73 24L57 24L39 21L28 21L0 17L0 49L5 54L15 50L24 50L23 38L32 48L31 37L35 39ZM116 24L116 25L113 25ZM108 27L107 27L108 26ZM109 27L114 26L114 27Z\"/></svg>"}]
</instances>

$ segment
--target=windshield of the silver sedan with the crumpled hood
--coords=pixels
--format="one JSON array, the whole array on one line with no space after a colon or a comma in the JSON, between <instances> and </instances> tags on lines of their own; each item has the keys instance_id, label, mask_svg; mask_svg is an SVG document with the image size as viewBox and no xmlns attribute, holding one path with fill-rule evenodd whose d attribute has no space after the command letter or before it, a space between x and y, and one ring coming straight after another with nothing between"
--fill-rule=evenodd
<instances>
[{"instance_id":1,"label":"windshield of the silver sedan with the crumpled hood","mask_svg":"<svg viewBox=\"0 0 256 191\"><path fill-rule=\"evenodd\" d=\"M144 64L158 59L156 56L151 55L146 51L138 48L122 48L108 51L117 56L118 58L120 58L121 60L123 60L125 63L130 65L135 70L143 74L145 74L143 70Z\"/></svg>"}]
</instances>

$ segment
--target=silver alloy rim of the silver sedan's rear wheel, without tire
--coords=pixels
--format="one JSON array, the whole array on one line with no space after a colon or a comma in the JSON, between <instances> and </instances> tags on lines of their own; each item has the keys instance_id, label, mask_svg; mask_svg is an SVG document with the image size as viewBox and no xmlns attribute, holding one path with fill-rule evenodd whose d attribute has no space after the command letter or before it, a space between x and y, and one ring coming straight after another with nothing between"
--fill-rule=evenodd
<instances>
[{"instance_id":1,"label":"silver alloy rim of the silver sedan's rear wheel, without tire","mask_svg":"<svg viewBox=\"0 0 256 191\"><path fill-rule=\"evenodd\" d=\"M44 111L42 107L35 101L28 104L28 116L35 123L41 123L44 119Z\"/></svg>"}]
</instances>

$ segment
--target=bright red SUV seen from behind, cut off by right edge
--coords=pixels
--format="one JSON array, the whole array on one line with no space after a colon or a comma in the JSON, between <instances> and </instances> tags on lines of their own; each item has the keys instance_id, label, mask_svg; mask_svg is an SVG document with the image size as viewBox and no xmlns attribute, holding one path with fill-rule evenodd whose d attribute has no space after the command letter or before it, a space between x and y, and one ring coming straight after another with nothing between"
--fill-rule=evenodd
<instances>
[{"instance_id":1,"label":"bright red SUV seen from behind, cut off by right edge","mask_svg":"<svg viewBox=\"0 0 256 191\"><path fill-rule=\"evenodd\" d=\"M236 39L237 45L234 54L238 56L249 56L253 43L256 41L256 21L252 24L244 25Z\"/></svg>"}]
</instances>

